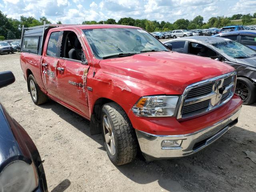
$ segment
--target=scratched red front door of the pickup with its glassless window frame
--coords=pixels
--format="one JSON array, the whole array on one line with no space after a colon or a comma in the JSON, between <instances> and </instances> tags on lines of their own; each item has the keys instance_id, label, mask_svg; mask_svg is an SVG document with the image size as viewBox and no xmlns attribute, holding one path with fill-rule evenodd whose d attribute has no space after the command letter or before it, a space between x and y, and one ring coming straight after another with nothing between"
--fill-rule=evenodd
<instances>
[{"instance_id":1,"label":"scratched red front door of the pickup with its glassless window frame","mask_svg":"<svg viewBox=\"0 0 256 192\"><path fill-rule=\"evenodd\" d=\"M89 65L82 63L85 50L78 32L63 31L60 57L56 64L57 94L69 108L89 117L86 76Z\"/></svg>"}]
</instances>

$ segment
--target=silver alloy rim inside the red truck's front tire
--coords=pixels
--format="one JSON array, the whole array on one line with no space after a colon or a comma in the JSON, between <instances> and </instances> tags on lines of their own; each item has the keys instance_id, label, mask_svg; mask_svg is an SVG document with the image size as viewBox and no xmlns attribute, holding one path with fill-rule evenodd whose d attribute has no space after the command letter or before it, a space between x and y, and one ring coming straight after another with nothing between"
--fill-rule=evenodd
<instances>
[{"instance_id":1,"label":"silver alloy rim inside the red truck's front tire","mask_svg":"<svg viewBox=\"0 0 256 192\"><path fill-rule=\"evenodd\" d=\"M114 155L116 153L115 139L112 131L113 129L110 124L110 120L106 114L104 114L102 121L103 121L102 124L103 124L104 137L105 137L108 150L110 154Z\"/></svg>"}]
</instances>

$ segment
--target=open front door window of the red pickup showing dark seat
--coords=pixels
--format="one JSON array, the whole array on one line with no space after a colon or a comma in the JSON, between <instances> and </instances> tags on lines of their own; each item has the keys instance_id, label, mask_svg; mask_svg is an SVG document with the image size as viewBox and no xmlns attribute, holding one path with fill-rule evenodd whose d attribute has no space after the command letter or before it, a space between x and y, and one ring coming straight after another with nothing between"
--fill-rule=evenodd
<instances>
[{"instance_id":1,"label":"open front door window of the red pickup showing dark seat","mask_svg":"<svg viewBox=\"0 0 256 192\"><path fill-rule=\"evenodd\" d=\"M82 61L82 52L82 46L76 33L65 31L62 39L60 57Z\"/></svg>"}]
</instances>

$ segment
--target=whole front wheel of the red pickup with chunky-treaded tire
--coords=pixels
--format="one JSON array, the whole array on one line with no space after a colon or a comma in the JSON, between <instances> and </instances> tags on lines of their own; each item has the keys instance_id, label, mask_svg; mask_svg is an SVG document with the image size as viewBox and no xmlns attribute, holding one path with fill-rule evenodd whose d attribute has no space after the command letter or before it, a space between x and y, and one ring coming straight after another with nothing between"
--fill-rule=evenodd
<instances>
[{"instance_id":1,"label":"whole front wheel of the red pickup with chunky-treaded tire","mask_svg":"<svg viewBox=\"0 0 256 192\"><path fill-rule=\"evenodd\" d=\"M114 102L104 104L100 121L104 145L111 162L115 165L132 162L137 155L138 141L124 110Z\"/></svg>"}]
</instances>

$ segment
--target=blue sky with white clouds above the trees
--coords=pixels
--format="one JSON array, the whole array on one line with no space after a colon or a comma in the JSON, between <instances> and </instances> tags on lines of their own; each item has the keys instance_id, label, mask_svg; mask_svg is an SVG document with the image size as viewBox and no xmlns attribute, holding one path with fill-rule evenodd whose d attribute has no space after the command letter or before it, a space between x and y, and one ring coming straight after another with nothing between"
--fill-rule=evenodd
<instances>
[{"instance_id":1,"label":"blue sky with white clouds above the trees","mask_svg":"<svg viewBox=\"0 0 256 192\"><path fill-rule=\"evenodd\" d=\"M0 0L8 17L45 16L52 23L80 24L84 20L122 17L175 22L201 15L204 22L213 16L253 14L256 0Z\"/></svg>"}]
</instances>

